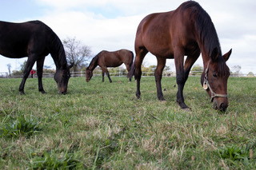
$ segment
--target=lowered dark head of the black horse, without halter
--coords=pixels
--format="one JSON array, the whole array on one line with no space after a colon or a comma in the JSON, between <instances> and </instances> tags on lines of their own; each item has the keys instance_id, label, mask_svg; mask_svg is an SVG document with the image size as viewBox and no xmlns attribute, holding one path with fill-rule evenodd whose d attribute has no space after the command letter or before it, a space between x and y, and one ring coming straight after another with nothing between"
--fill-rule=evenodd
<instances>
[{"instance_id":1,"label":"lowered dark head of the black horse, without halter","mask_svg":"<svg viewBox=\"0 0 256 170\"><path fill-rule=\"evenodd\" d=\"M66 67L57 69L56 73L54 74L54 80L58 85L58 93L66 94L67 85L70 79L70 68L74 65L66 65Z\"/></svg>"}]
</instances>

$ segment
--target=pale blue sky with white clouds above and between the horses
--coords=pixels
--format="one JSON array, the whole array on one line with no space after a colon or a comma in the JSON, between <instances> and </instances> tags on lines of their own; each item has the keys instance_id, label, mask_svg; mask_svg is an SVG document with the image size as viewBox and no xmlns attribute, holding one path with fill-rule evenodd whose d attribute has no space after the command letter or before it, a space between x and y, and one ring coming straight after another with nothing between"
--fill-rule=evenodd
<instances>
[{"instance_id":1,"label":"pale blue sky with white clouds above and between the horses","mask_svg":"<svg viewBox=\"0 0 256 170\"><path fill-rule=\"evenodd\" d=\"M101 50L130 49L139 22L147 14L175 10L182 0L1 0L0 21L26 22L40 20L50 26L63 40L76 38L90 47L96 55ZM227 65L231 71L241 66L242 73L256 73L256 1L255 0L198 0L210 15L217 30L222 54L232 49ZM26 61L0 56L0 73L20 69ZM157 65L148 53L144 65ZM45 65L55 69L54 61L46 57ZM166 65L174 70L174 60ZM202 57L195 65L202 65ZM35 69L35 66L34 66Z\"/></svg>"}]
</instances>

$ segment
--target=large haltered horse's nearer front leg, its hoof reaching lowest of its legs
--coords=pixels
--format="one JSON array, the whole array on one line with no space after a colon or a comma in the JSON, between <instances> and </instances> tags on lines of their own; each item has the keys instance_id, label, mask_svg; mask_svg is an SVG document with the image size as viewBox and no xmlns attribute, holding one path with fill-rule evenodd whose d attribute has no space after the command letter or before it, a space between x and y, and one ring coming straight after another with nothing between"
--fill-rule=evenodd
<instances>
[{"instance_id":1,"label":"large haltered horse's nearer front leg, its hoof reaching lowest of its legs","mask_svg":"<svg viewBox=\"0 0 256 170\"><path fill-rule=\"evenodd\" d=\"M174 52L174 62L176 66L176 82L178 85L177 103L182 109L188 109L189 107L184 102L183 89L186 82L186 76L184 72L184 52L180 49L176 49Z\"/></svg>"}]
</instances>

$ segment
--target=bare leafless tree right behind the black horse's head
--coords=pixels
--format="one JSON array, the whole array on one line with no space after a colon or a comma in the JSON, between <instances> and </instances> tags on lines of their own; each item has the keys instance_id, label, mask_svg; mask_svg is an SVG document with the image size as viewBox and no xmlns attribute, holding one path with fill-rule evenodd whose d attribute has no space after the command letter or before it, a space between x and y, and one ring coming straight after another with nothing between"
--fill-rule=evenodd
<instances>
[{"instance_id":1,"label":"bare leafless tree right behind the black horse's head","mask_svg":"<svg viewBox=\"0 0 256 170\"><path fill-rule=\"evenodd\" d=\"M63 40L63 45L65 47L66 59L69 63L74 63L74 72L78 69L82 69L82 66L89 61L91 56L90 47L87 45L82 45L82 42L76 38L66 38Z\"/></svg>"}]
</instances>

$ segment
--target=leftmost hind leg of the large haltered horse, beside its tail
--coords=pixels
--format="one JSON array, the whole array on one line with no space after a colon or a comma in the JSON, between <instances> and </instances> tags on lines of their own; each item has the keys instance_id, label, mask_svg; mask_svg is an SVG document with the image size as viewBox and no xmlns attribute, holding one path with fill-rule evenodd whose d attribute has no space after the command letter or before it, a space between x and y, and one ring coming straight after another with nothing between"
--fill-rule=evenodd
<instances>
[{"instance_id":1,"label":"leftmost hind leg of the large haltered horse, beside its tail","mask_svg":"<svg viewBox=\"0 0 256 170\"><path fill-rule=\"evenodd\" d=\"M134 78L137 80L136 97L139 99L141 97L140 81L142 77L142 61L146 56L146 53L148 53L148 50L146 50L146 48L135 47L135 52L136 57L134 61Z\"/></svg>"}]
</instances>

